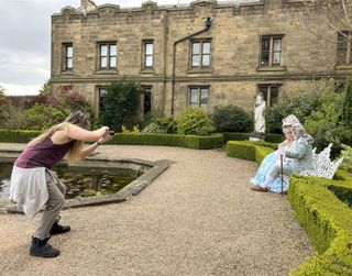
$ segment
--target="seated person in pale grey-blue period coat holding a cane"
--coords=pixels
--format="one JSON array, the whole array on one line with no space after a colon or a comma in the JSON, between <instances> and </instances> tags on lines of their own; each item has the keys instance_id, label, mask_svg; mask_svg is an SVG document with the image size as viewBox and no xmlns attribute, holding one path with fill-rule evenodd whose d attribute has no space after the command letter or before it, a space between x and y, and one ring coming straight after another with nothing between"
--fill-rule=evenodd
<instances>
[{"instance_id":1,"label":"seated person in pale grey-blue period coat holding a cane","mask_svg":"<svg viewBox=\"0 0 352 276\"><path fill-rule=\"evenodd\" d=\"M294 146L289 150L286 150L285 147L278 150L278 154L284 156L283 173L285 176L312 168L312 153L309 143L312 141L311 136L305 132L305 129L300 123L293 124L292 131L295 137ZM280 159L277 158L267 170L265 180L257 184L257 186L251 187L251 189L256 191L268 191L272 184L278 178L280 172Z\"/></svg>"}]
</instances>

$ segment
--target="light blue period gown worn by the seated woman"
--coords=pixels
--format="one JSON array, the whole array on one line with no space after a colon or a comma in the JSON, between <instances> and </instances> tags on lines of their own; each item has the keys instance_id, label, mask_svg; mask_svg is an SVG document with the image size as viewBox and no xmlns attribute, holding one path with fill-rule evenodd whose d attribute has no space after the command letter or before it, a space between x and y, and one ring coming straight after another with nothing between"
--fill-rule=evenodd
<instances>
[{"instance_id":1,"label":"light blue period gown worn by the seated woman","mask_svg":"<svg viewBox=\"0 0 352 276\"><path fill-rule=\"evenodd\" d=\"M255 176L250 180L251 184L255 186L260 186L263 184L266 179L267 173L271 169L271 167L277 162L278 159L278 151L275 151L273 153L270 153L265 156L265 158L262 161L261 166L256 170ZM286 157L286 161L288 158ZM284 175L284 191L288 190L289 186L289 177L287 175ZM273 192L282 192L282 177L280 175L276 177L268 186L270 191Z\"/></svg>"}]
</instances>

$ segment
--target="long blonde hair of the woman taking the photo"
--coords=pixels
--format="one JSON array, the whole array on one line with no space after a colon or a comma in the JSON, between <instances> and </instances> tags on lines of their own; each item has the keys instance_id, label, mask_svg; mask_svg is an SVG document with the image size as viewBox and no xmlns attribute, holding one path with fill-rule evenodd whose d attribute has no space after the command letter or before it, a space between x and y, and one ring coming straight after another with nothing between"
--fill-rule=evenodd
<instances>
[{"instance_id":1,"label":"long blonde hair of the woman taking the photo","mask_svg":"<svg viewBox=\"0 0 352 276\"><path fill-rule=\"evenodd\" d=\"M46 130L44 133L38 135L37 137L33 139L29 146L36 145L38 143L42 143L45 139L51 137L56 131L62 131L66 128L69 128L70 124L78 125L82 129L88 130L90 128L90 121L88 115L80 111L76 111L72 114L69 114L64 122L58 123ZM67 153L67 159L69 163L79 161L80 158L80 150L82 147L84 142L79 140L74 140L73 145L69 148Z\"/></svg>"}]
</instances>

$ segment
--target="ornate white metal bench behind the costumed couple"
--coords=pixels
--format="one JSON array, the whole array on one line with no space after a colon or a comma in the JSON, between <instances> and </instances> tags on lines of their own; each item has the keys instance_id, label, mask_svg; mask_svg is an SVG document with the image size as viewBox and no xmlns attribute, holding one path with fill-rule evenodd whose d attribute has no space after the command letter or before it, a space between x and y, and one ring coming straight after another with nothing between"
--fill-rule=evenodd
<instances>
[{"instance_id":1,"label":"ornate white metal bench behind the costumed couple","mask_svg":"<svg viewBox=\"0 0 352 276\"><path fill-rule=\"evenodd\" d=\"M332 179L334 173L338 170L339 166L343 162L343 157L337 162L330 161L331 146L327 146L319 154L316 153L317 148L312 150L312 167L314 169L306 169L300 172L304 176L317 176Z\"/></svg>"}]
</instances>

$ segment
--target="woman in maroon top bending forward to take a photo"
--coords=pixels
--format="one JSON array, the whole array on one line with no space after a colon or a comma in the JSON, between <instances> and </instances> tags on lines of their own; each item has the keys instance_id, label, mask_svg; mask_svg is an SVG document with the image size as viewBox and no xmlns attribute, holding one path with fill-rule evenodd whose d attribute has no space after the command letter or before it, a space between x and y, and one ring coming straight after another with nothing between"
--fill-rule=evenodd
<instances>
[{"instance_id":1,"label":"woman in maroon top bending forward to take a photo","mask_svg":"<svg viewBox=\"0 0 352 276\"><path fill-rule=\"evenodd\" d=\"M111 139L108 126L96 131L89 129L90 122L86 114L80 111L72 113L63 123L32 140L14 162L10 199L22 206L30 218L45 206L40 227L32 236L32 256L56 257L59 251L47 244L48 239L70 231L70 227L58 224L66 187L52 168L65 155L69 163L84 159ZM84 147L84 141L96 142Z\"/></svg>"}]
</instances>

